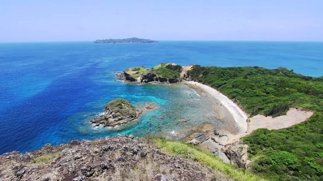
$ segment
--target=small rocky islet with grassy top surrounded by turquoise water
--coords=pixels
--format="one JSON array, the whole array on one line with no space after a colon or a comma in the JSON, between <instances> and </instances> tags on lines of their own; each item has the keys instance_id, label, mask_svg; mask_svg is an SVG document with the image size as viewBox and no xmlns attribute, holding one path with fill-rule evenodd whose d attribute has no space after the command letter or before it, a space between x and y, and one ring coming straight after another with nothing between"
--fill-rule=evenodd
<instances>
[{"instance_id":1,"label":"small rocky islet with grassy top surrounded by turquoise water","mask_svg":"<svg viewBox=\"0 0 323 181\"><path fill-rule=\"evenodd\" d=\"M90 122L95 126L103 125L104 127L115 127L133 121L144 111L153 109L155 104L146 104L144 109L137 110L126 99L114 99L106 105L105 113L95 117Z\"/></svg>"}]
</instances>

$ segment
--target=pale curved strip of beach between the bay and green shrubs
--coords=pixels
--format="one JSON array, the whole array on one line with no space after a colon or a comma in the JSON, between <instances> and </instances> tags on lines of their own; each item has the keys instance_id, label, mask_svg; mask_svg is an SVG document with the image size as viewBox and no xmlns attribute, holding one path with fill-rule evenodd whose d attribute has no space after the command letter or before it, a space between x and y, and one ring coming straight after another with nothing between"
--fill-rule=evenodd
<instances>
[{"instance_id":1,"label":"pale curved strip of beach between the bay and green shrubs","mask_svg":"<svg viewBox=\"0 0 323 181\"><path fill-rule=\"evenodd\" d=\"M228 112L233 116L234 122L238 126L239 132L238 134L243 134L247 132L248 124L247 124L247 118L248 115L243 112L239 106L237 106L231 99L227 98L225 95L221 94L214 88L204 85L199 82L193 82L193 81L185 81L184 84L197 86L198 88L205 91L207 94L212 96L213 98L217 99L227 110Z\"/></svg>"}]
</instances>

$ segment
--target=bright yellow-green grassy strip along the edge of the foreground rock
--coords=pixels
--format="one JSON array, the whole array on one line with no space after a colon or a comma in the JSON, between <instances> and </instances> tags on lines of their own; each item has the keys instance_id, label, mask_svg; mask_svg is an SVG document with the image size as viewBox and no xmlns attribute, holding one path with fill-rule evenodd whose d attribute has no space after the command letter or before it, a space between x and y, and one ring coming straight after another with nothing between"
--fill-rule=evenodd
<instances>
[{"instance_id":1,"label":"bright yellow-green grassy strip along the edge of the foreground rock","mask_svg":"<svg viewBox=\"0 0 323 181\"><path fill-rule=\"evenodd\" d=\"M246 170L238 168L231 164L226 164L219 157L206 151L202 148L186 144L180 141L169 141L165 138L153 138L151 139L162 150L168 154L178 155L186 159L191 159L199 162L200 164L207 165L215 171L220 171L225 174L226 177L236 181L264 181Z\"/></svg>"}]
</instances>

